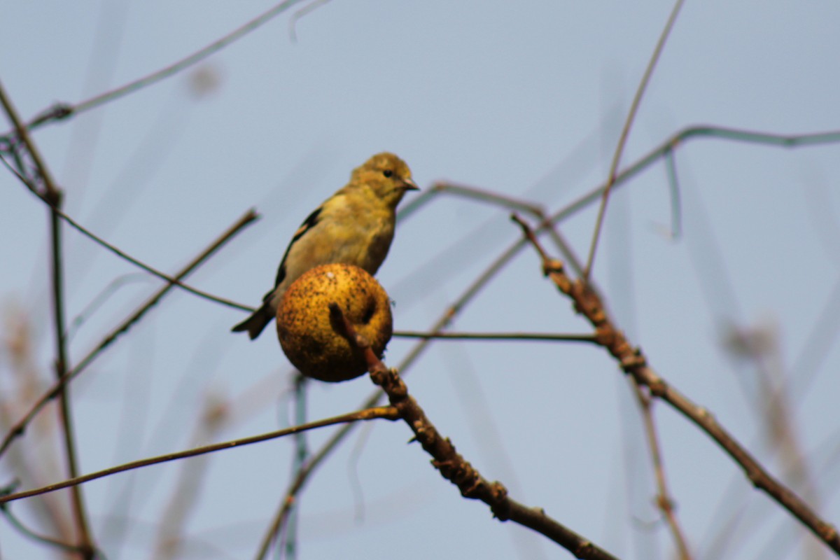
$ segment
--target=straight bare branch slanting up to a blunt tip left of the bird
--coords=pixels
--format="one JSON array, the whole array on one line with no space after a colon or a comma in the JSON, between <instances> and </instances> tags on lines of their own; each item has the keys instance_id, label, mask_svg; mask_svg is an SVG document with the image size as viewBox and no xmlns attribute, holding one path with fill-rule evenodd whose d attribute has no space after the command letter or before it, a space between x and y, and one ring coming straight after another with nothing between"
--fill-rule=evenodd
<instances>
[{"instance_id":1,"label":"straight bare branch slanting up to a blunt tip left of the bird","mask_svg":"<svg viewBox=\"0 0 840 560\"><path fill-rule=\"evenodd\" d=\"M247 226L249 223L255 220L255 213L253 210L249 210L245 212L239 220L234 223L233 226L228 228L228 231L224 232L218 239L216 239L207 249L202 251L195 259L192 260L191 263L187 264L186 267L178 272L175 275L175 279L168 282L163 288L158 290L154 296L151 296L148 301L146 301L142 306L134 311L127 319L121 322L116 328L113 329L105 338L102 339L96 348L93 348L87 356L85 356L81 361L76 364L76 366L67 371L66 374L62 375L60 379L58 379L49 390L46 390L43 395L36 400L34 404L29 408L29 411L11 427L6 434L6 437L3 438L3 443L0 443L0 456L6 452L8 446L18 437L23 436L24 430L26 426L29 424L34 416L38 414L38 412L44 408L44 406L53 400L56 395L60 393L61 388L69 383L71 379L75 378L76 375L80 374L89 364L92 363L94 359L97 358L99 353L102 352L105 348L111 345L120 335L124 332L127 332L129 328L131 328L135 322L138 322L145 314L146 311L149 311L152 307L154 307L167 293L171 290L172 286L175 285L176 280L181 280L185 278L187 275L192 274L194 270L196 270L201 264L204 263L213 253L216 252L220 247L223 246L224 243L227 243L229 239L233 238L236 233Z\"/></svg>"}]
</instances>

